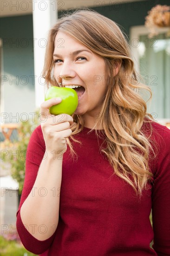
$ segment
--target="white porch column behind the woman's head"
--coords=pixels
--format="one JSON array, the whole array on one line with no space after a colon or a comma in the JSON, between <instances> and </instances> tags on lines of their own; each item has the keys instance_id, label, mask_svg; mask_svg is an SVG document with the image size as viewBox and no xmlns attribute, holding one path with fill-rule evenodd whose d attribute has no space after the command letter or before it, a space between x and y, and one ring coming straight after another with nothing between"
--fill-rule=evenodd
<instances>
[{"instance_id":1,"label":"white porch column behind the woman's head","mask_svg":"<svg viewBox=\"0 0 170 256\"><path fill-rule=\"evenodd\" d=\"M58 18L57 0L33 0L34 76L36 108L44 101L45 80L41 77L47 35Z\"/></svg>"}]
</instances>

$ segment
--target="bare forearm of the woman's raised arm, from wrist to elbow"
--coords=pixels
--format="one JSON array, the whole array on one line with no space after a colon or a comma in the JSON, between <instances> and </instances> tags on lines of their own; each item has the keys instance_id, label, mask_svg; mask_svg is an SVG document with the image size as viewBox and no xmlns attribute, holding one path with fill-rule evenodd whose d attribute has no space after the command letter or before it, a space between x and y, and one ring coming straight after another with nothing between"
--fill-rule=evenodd
<instances>
[{"instance_id":1,"label":"bare forearm of the woman's raised arm, from wrist to elbow","mask_svg":"<svg viewBox=\"0 0 170 256\"><path fill-rule=\"evenodd\" d=\"M42 160L33 189L20 209L22 222L38 240L48 239L59 221L62 159L52 154Z\"/></svg>"}]
</instances>

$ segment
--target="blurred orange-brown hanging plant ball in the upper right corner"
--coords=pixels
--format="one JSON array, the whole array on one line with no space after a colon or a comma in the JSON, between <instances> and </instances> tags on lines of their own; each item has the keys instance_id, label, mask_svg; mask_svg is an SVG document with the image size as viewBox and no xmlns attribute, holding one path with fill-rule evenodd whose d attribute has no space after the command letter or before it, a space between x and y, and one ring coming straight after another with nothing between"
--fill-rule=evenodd
<instances>
[{"instance_id":1,"label":"blurred orange-brown hanging plant ball in the upper right corner","mask_svg":"<svg viewBox=\"0 0 170 256\"><path fill-rule=\"evenodd\" d=\"M153 7L145 17L145 26L150 31L149 38L158 34L157 28L170 27L170 6L157 5Z\"/></svg>"}]
</instances>

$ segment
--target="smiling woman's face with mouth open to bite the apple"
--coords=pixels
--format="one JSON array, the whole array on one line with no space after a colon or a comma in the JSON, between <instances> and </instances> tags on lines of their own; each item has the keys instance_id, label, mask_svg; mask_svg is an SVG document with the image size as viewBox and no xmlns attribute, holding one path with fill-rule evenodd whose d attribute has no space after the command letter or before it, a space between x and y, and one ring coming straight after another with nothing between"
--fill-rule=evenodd
<instances>
[{"instance_id":1,"label":"smiling woman's face with mouth open to bite the apple","mask_svg":"<svg viewBox=\"0 0 170 256\"><path fill-rule=\"evenodd\" d=\"M58 32L55 38L54 76L62 87L78 85L76 115L95 121L105 98L105 61L69 35ZM83 94L82 94L83 93ZM97 113L97 114L96 114Z\"/></svg>"}]
</instances>

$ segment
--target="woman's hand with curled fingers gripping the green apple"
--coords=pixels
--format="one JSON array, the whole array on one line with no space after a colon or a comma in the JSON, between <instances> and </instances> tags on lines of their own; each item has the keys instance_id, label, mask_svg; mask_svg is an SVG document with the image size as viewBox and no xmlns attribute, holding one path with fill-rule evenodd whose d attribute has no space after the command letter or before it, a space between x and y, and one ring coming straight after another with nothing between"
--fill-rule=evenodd
<instances>
[{"instance_id":1,"label":"woman's hand with curled fingers gripping the green apple","mask_svg":"<svg viewBox=\"0 0 170 256\"><path fill-rule=\"evenodd\" d=\"M59 98L44 101L40 107L41 128L46 144L46 153L61 156L67 150L66 138L72 134L70 125L73 122L71 115L51 115L49 108L59 104Z\"/></svg>"}]
</instances>

